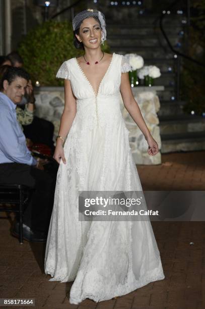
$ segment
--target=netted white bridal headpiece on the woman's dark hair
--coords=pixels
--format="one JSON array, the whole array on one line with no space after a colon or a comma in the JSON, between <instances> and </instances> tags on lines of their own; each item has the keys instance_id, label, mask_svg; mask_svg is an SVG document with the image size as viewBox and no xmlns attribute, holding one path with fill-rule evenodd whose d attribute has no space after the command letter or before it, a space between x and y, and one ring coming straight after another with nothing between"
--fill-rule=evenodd
<instances>
[{"instance_id":1,"label":"netted white bridal headpiece on the woman's dark hair","mask_svg":"<svg viewBox=\"0 0 205 309\"><path fill-rule=\"evenodd\" d=\"M98 10L87 9L87 10L84 10L84 11L78 13L72 21L73 30L75 31L76 29L80 28L84 19L89 18L89 17L93 17L98 22L100 22L100 26L101 26L101 29L102 29L101 41L104 44L104 41L106 40L105 15Z\"/></svg>"}]
</instances>

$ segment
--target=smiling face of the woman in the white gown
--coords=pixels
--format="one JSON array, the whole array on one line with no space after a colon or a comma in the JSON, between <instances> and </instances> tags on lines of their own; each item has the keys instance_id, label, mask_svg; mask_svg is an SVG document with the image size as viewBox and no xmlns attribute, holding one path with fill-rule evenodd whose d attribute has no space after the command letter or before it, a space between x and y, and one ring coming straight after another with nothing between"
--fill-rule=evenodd
<instances>
[{"instance_id":1,"label":"smiling face of the woman in the white gown","mask_svg":"<svg viewBox=\"0 0 205 309\"><path fill-rule=\"evenodd\" d=\"M79 35L76 34L79 41L88 48L96 48L101 44L100 24L93 17L86 18L80 26Z\"/></svg>"}]
</instances>

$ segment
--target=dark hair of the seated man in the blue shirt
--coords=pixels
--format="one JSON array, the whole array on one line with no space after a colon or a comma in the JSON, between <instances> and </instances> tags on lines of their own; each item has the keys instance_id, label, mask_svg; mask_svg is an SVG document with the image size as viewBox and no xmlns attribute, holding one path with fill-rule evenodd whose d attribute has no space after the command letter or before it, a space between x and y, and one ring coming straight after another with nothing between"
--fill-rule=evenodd
<instances>
[{"instance_id":1,"label":"dark hair of the seated man in the blue shirt","mask_svg":"<svg viewBox=\"0 0 205 309\"><path fill-rule=\"evenodd\" d=\"M5 70L1 81L0 81L0 89L4 89L4 81L7 80L9 85L17 78L17 77L21 77L26 79L27 81L29 81L30 79L30 75L28 72L26 72L26 70L22 69L22 68L14 68L14 67L9 67L7 68L7 70Z\"/></svg>"}]
</instances>

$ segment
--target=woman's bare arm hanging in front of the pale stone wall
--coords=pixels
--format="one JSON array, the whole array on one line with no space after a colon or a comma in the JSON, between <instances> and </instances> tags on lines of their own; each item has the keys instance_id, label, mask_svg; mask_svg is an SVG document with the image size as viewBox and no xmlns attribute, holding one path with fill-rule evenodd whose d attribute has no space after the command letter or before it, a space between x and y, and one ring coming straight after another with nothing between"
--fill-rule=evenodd
<instances>
[{"instance_id":1,"label":"woman's bare arm hanging in front of the pale stone wall","mask_svg":"<svg viewBox=\"0 0 205 309\"><path fill-rule=\"evenodd\" d=\"M140 111L140 108L138 106L138 103L134 99L134 96L132 94L132 90L129 83L129 75L128 73L122 73L121 75L121 84L120 84L120 92L122 95L123 103L125 106L125 109L130 114L133 121L138 125L138 127L141 129L143 134L145 135L145 138L148 142L149 149L148 153L149 155L156 155L159 151L158 144L152 137L145 120L142 116L142 113Z\"/></svg>"}]
</instances>

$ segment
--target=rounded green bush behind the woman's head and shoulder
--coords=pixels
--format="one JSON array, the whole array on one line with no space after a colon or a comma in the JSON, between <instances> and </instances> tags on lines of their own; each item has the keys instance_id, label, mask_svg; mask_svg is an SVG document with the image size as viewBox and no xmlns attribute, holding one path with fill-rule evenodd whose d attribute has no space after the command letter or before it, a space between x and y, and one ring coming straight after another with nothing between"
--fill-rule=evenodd
<instances>
[{"instance_id":1,"label":"rounded green bush behind the woman's head and shoulder","mask_svg":"<svg viewBox=\"0 0 205 309\"><path fill-rule=\"evenodd\" d=\"M109 53L106 42L101 46L104 52ZM34 85L38 80L41 86L62 86L63 80L55 78L60 65L84 53L73 44L72 24L53 20L32 29L21 41L18 52Z\"/></svg>"}]
</instances>

